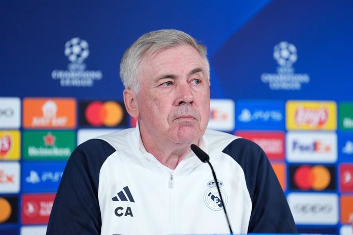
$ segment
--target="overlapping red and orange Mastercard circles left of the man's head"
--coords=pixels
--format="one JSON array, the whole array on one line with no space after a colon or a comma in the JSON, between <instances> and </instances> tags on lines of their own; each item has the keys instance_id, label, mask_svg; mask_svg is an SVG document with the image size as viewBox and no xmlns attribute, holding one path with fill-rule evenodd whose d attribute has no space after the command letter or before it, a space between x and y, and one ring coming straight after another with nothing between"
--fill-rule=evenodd
<instances>
[{"instance_id":1,"label":"overlapping red and orange Mastercard circles left of the man's head","mask_svg":"<svg viewBox=\"0 0 353 235\"><path fill-rule=\"evenodd\" d=\"M86 106L84 116L92 126L115 127L123 120L124 110L115 101L94 101Z\"/></svg>"}]
</instances>

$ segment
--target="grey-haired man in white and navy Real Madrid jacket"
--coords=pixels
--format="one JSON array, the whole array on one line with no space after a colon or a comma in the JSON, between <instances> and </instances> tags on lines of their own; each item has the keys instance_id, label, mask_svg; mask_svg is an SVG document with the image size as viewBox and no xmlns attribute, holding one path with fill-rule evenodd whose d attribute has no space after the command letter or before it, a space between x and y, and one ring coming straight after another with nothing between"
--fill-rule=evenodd
<instances>
[{"instance_id":1,"label":"grey-haired man in white and navy Real Madrid jacket","mask_svg":"<svg viewBox=\"0 0 353 235\"><path fill-rule=\"evenodd\" d=\"M229 233L207 152L234 233L296 232L271 165L254 143L206 130L205 46L177 30L140 37L120 76L136 128L91 139L72 153L47 234Z\"/></svg>"}]
</instances>

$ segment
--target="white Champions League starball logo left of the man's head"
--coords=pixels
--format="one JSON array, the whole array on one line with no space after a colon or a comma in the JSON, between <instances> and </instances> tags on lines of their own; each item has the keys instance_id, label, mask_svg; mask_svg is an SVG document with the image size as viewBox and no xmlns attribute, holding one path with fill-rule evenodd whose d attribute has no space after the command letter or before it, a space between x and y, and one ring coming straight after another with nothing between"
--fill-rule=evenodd
<instances>
[{"instance_id":1,"label":"white Champions League starball logo left of the man's head","mask_svg":"<svg viewBox=\"0 0 353 235\"><path fill-rule=\"evenodd\" d=\"M65 43L65 56L68 57L68 70L55 69L52 72L54 80L60 80L60 85L64 87L92 87L95 81L103 78L100 70L86 70L83 61L90 55L87 41L75 37Z\"/></svg>"}]
</instances>

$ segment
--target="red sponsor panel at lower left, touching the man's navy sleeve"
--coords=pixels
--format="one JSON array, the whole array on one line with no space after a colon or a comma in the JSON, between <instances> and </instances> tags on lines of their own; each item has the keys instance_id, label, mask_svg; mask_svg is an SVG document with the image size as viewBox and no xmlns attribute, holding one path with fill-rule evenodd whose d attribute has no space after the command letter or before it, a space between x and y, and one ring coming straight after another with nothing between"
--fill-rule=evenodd
<instances>
[{"instance_id":1,"label":"red sponsor panel at lower left, touching the man's navy sleeve","mask_svg":"<svg viewBox=\"0 0 353 235\"><path fill-rule=\"evenodd\" d=\"M22 223L47 224L55 194L24 194L22 196Z\"/></svg>"}]
</instances>

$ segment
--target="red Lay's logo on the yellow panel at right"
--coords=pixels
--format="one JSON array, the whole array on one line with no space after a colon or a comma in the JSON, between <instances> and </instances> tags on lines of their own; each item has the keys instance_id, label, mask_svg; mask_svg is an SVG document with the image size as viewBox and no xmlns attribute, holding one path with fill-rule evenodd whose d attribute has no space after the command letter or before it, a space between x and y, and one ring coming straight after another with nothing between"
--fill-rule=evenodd
<instances>
[{"instance_id":1,"label":"red Lay's logo on the yellow panel at right","mask_svg":"<svg viewBox=\"0 0 353 235\"><path fill-rule=\"evenodd\" d=\"M309 125L322 127L328 120L328 110L325 107L308 108L299 106L295 111L295 123L297 125Z\"/></svg>"}]
</instances>

